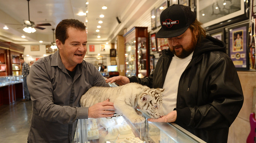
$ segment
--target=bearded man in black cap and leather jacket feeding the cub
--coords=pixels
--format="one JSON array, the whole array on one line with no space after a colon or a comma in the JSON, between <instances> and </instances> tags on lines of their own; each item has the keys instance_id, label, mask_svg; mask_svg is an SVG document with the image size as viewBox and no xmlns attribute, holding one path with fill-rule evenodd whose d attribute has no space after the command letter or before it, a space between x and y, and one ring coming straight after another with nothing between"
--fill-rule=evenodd
<instances>
[{"instance_id":1,"label":"bearded man in black cap and leather jacket feeding the cub","mask_svg":"<svg viewBox=\"0 0 256 143\"><path fill-rule=\"evenodd\" d=\"M206 36L191 8L172 5L160 14L157 38L166 38L149 77L116 76L106 82L137 82L164 88L164 116L153 122L175 122L207 143L226 143L230 125L244 102L240 80L223 41Z\"/></svg>"}]
</instances>

